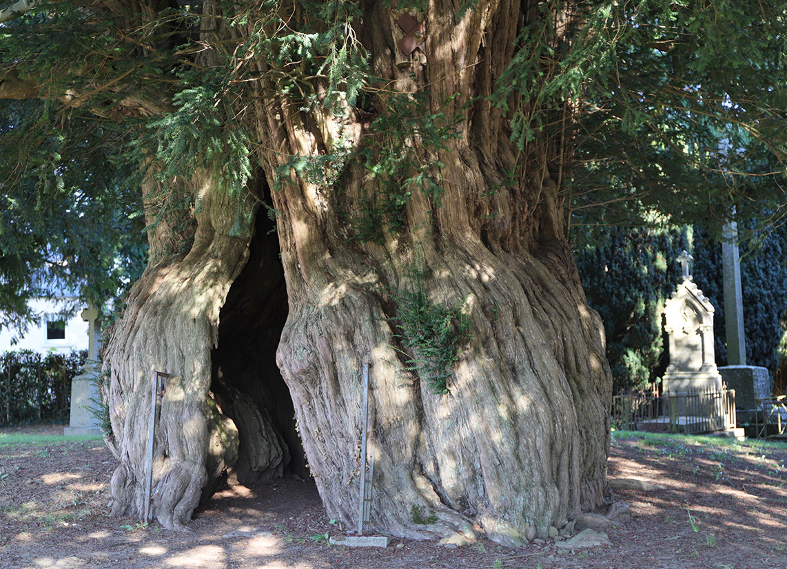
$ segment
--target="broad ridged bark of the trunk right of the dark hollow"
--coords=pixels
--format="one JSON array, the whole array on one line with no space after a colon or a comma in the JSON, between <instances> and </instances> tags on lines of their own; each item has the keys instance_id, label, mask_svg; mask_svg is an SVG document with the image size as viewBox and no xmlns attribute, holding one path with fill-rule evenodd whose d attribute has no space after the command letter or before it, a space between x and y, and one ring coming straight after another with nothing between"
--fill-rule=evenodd
<instances>
[{"instance_id":1,"label":"broad ridged bark of the trunk right of the dark hollow","mask_svg":"<svg viewBox=\"0 0 787 569\"><path fill-rule=\"evenodd\" d=\"M333 212L364 216L366 197L384 191L379 182L349 168L341 192L294 179L274 194L290 298L278 362L323 502L345 523L357 521L365 362L372 364L378 530L424 537L480 527L519 545L604 503L611 379L600 322L586 305L563 227L566 149L537 134L517 150L486 98L500 72L493 62L512 49L519 9L518 2L482 3L456 24L450 11L431 5L428 64L416 60L404 70L393 53L395 34L367 39L376 74L398 91L428 84L433 111L464 118L461 136L439 153L440 204L413 194L396 235L347 246L352 235ZM390 13L377 5L364 17L364 29L392 29ZM480 102L470 104L474 96ZM335 133L311 126L325 124L319 116L310 123L288 102L270 113L291 117L283 153L331 148ZM342 132L357 140L375 135L350 112ZM515 164L522 176L505 185ZM446 396L410 369L392 325L393 291L415 286L406 275L416 265L427 273L430 299L464 304L471 323ZM438 522L420 526L413 507Z\"/></svg>"}]
</instances>

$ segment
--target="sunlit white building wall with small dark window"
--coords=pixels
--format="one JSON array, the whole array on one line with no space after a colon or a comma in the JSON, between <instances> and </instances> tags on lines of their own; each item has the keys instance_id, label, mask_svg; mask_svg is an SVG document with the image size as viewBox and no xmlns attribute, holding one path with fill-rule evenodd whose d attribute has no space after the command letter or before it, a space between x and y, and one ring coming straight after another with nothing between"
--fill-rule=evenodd
<instances>
[{"instance_id":1,"label":"sunlit white building wall with small dark window","mask_svg":"<svg viewBox=\"0 0 787 569\"><path fill-rule=\"evenodd\" d=\"M31 349L39 353L46 353L54 349L56 352L68 353L72 349L87 349L88 324L79 316L79 312L82 312L81 309L66 320L65 338L51 340L46 338L46 318L44 315L61 312L64 305L65 301L49 301L41 298L30 301L31 309L41 314L38 324L31 324L27 334L21 338L17 331L0 330L0 353L20 349ZM11 345L13 338L18 338L18 342Z\"/></svg>"}]
</instances>

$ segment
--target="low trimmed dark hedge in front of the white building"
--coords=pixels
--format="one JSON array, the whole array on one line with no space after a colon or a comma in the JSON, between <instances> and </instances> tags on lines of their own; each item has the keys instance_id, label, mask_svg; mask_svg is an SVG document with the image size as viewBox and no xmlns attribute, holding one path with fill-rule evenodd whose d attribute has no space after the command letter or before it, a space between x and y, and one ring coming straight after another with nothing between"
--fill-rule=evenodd
<instances>
[{"instance_id":1,"label":"low trimmed dark hedge in front of the white building","mask_svg":"<svg viewBox=\"0 0 787 569\"><path fill-rule=\"evenodd\" d=\"M67 423L71 381L87 352L46 353L23 349L0 356L0 425Z\"/></svg>"}]
</instances>

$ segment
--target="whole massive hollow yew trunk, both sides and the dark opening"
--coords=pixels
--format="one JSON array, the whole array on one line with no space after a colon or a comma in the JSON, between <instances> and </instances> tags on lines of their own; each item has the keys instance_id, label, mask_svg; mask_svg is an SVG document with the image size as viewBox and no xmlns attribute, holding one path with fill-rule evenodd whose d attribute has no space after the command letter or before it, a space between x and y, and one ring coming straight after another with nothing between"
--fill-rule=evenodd
<instances>
[{"instance_id":1,"label":"whole massive hollow yew trunk, both sides and the dark opening","mask_svg":"<svg viewBox=\"0 0 787 569\"><path fill-rule=\"evenodd\" d=\"M523 4L478 2L457 22L451 3L430 2L416 15L427 25L425 54L412 57L396 46L401 12L364 4L357 33L387 87L357 109L298 100L273 83L263 57L253 63L246 116L264 176L280 187L270 199L281 261L275 242L271 249L261 237L263 224L257 245L231 237L235 203L211 179L192 181L203 194L194 244L185 256L157 252L107 352L120 458L114 512L142 511L150 375L158 369L173 375L153 468L161 523L187 523L227 469L240 482L280 474L299 453L294 410L327 512L353 526L367 363L376 530L411 538L481 530L519 545L604 503L611 378L565 235L560 190L570 149L536 131L518 150L489 101L521 24L539 17ZM205 10L218 13L212 2ZM244 32L218 18L205 28L224 39ZM423 131L402 142L442 192L413 190L399 210L385 206L390 180L346 151L386 139L370 122L389 113L393 92L427 94L413 113L456 119L456 136L442 146L429 146ZM315 94L325 95L319 82ZM278 179L291 157L331 154L337 172L323 172L336 173L331 180ZM412 175L392 176L401 187ZM249 255L256 260L238 277ZM273 272L280 276L268 279ZM286 312L272 308L284 304L281 283ZM459 351L447 393L432 385L436 356L415 338L425 323L412 320L413 302L422 314L442 307L443 331L467 327L453 337ZM429 328L427 343L439 333ZM270 366L276 345L291 402ZM438 344L449 364L452 345Z\"/></svg>"}]
</instances>

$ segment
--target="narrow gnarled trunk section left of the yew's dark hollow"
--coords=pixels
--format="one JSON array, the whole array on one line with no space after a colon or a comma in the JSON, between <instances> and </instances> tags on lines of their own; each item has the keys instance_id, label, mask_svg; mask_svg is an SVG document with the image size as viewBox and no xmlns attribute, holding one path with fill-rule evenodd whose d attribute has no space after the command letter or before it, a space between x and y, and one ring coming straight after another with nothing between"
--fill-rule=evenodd
<instances>
[{"instance_id":1,"label":"narrow gnarled trunk section left of the yew's dark hollow","mask_svg":"<svg viewBox=\"0 0 787 569\"><path fill-rule=\"evenodd\" d=\"M113 452L120 460L111 485L113 514L144 511L152 375L171 375L153 459L153 515L170 528L189 521L203 488L234 464L238 452L237 429L209 393L211 349L220 307L248 257L249 238L229 235L235 203L209 174L194 176L191 184L202 207L194 214L190 250L152 256L161 260L131 289L104 353L111 370Z\"/></svg>"}]
</instances>

